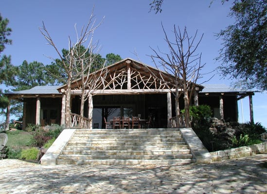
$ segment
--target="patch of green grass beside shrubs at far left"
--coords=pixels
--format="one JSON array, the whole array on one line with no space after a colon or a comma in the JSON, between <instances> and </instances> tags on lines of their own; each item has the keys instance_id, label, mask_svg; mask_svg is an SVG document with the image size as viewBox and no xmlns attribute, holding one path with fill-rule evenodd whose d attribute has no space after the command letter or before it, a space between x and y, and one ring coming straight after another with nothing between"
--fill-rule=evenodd
<instances>
[{"instance_id":1,"label":"patch of green grass beside shrubs at far left","mask_svg":"<svg viewBox=\"0 0 267 194\"><path fill-rule=\"evenodd\" d=\"M24 146L30 146L32 134L23 130L7 131L8 136L7 147L18 148Z\"/></svg>"}]
</instances>

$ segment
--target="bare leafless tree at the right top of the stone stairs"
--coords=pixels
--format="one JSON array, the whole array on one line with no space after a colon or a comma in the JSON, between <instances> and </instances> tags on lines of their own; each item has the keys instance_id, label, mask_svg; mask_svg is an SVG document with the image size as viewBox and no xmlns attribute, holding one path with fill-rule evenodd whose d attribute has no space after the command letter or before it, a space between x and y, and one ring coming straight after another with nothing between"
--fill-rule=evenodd
<instances>
[{"instance_id":1,"label":"bare leafless tree at the right top of the stone stairs","mask_svg":"<svg viewBox=\"0 0 267 194\"><path fill-rule=\"evenodd\" d=\"M163 53L152 49L155 55L151 55L155 65L160 69L162 67L165 72L174 75L174 86L176 91L174 92L176 101L176 115L179 116L179 97L184 95L184 109L185 109L185 126L191 127L189 104L192 94L195 90L196 81L202 78L200 70L205 64L201 64L201 54L196 54L196 49L201 42L203 34L197 41L197 31L194 36L189 36L186 28L183 31L180 28L176 28L174 25L174 41L171 41L166 31L161 24L163 32L165 34L165 41L169 48L169 53ZM157 61L159 64L157 65ZM164 80L163 80L164 81ZM178 121L177 121L178 123Z\"/></svg>"}]
</instances>

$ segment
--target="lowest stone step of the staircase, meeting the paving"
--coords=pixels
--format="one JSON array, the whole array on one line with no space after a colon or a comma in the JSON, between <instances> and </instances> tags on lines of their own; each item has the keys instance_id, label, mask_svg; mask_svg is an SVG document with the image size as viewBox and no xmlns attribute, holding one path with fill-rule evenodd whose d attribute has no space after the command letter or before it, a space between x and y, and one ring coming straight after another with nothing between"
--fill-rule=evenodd
<instances>
[{"instance_id":1,"label":"lowest stone step of the staircase, meeting the paving","mask_svg":"<svg viewBox=\"0 0 267 194\"><path fill-rule=\"evenodd\" d=\"M73 160L57 159L56 164L89 164L89 165L183 165L191 163L192 159L172 159L172 160Z\"/></svg>"}]
</instances>

